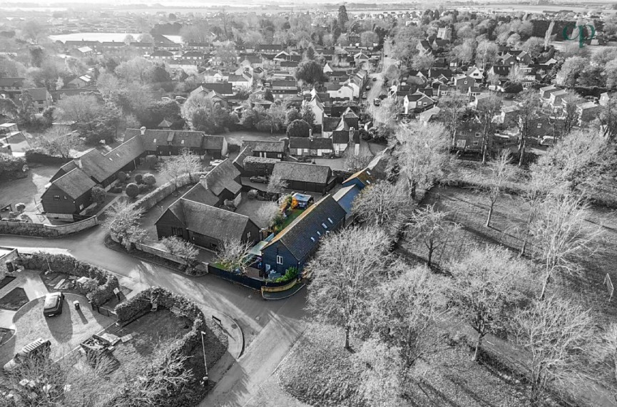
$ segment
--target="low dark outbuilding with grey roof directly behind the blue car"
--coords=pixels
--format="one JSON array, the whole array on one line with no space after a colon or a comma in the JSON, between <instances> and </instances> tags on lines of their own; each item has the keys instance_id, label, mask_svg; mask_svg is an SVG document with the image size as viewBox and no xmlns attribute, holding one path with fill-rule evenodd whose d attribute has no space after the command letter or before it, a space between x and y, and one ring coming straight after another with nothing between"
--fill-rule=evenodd
<instances>
[{"instance_id":1,"label":"low dark outbuilding with grey roof directly behind the blue car","mask_svg":"<svg viewBox=\"0 0 617 407\"><path fill-rule=\"evenodd\" d=\"M332 170L327 165L280 161L274 165L272 177L280 177L292 190L325 194L335 184Z\"/></svg>"}]
</instances>

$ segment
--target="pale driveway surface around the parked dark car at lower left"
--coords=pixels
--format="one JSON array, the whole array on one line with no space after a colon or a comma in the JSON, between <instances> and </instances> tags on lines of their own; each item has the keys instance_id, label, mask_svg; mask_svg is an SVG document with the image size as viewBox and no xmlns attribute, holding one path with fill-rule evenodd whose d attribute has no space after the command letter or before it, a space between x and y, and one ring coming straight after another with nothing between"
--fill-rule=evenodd
<instances>
[{"instance_id":1,"label":"pale driveway surface around the parked dark car at lower left","mask_svg":"<svg viewBox=\"0 0 617 407\"><path fill-rule=\"evenodd\" d=\"M0 347L1 364L6 364L19 349L39 338L51 341L51 356L57 359L116 321L92 311L85 297L65 295L60 315L43 316L44 297L34 299L16 312L13 317L16 339ZM80 309L75 309L73 301L79 302Z\"/></svg>"}]
</instances>

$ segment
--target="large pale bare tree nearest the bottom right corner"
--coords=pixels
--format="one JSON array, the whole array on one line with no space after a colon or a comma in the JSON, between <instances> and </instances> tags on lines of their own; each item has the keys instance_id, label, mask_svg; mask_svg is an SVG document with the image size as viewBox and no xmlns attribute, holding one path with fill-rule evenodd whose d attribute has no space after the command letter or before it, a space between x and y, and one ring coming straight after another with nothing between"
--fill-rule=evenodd
<instances>
[{"instance_id":1,"label":"large pale bare tree nearest the bottom right corner","mask_svg":"<svg viewBox=\"0 0 617 407\"><path fill-rule=\"evenodd\" d=\"M519 311L513 325L516 344L529 353L519 359L531 381L529 403L541 406L552 383L576 375L581 350L593 338L593 318L568 299L549 297Z\"/></svg>"}]
</instances>

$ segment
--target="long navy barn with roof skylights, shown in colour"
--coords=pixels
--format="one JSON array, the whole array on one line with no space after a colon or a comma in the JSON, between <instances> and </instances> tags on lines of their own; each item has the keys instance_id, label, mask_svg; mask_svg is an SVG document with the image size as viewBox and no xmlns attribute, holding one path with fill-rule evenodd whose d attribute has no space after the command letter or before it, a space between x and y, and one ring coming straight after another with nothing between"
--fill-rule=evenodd
<instances>
[{"instance_id":1,"label":"long navy barn with roof skylights, shown in colour","mask_svg":"<svg viewBox=\"0 0 617 407\"><path fill-rule=\"evenodd\" d=\"M339 230L346 216L347 212L332 195L315 202L263 247L265 272L285 274L290 267L302 270L320 239Z\"/></svg>"}]
</instances>

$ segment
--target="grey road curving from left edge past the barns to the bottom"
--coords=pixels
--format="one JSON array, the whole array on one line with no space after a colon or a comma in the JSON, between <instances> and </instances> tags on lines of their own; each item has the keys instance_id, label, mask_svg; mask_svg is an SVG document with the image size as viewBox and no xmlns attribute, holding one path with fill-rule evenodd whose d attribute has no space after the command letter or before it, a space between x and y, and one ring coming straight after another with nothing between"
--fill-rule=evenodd
<instances>
[{"instance_id":1,"label":"grey road curving from left edge past the barns to the bottom","mask_svg":"<svg viewBox=\"0 0 617 407\"><path fill-rule=\"evenodd\" d=\"M268 302L260 292L217 277L188 277L143 262L103 245L101 226L57 239L0 235L0 246L63 251L84 262L151 286L160 286L225 312L245 335L245 354L233 364L203 406L243 406L275 371L302 333L305 290L289 299Z\"/></svg>"}]
</instances>

